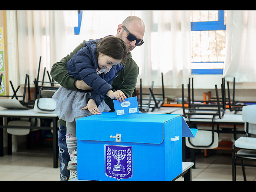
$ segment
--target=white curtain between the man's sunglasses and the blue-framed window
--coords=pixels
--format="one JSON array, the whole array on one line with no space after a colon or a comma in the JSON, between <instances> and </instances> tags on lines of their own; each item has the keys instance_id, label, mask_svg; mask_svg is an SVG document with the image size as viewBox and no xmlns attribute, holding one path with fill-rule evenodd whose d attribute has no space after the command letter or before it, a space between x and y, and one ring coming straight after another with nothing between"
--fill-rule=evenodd
<instances>
[{"instance_id":1,"label":"white curtain between the man's sunglasses and the blue-framed window","mask_svg":"<svg viewBox=\"0 0 256 192\"><path fill-rule=\"evenodd\" d=\"M145 61L140 66L142 85L181 88L188 83L190 69L190 11L150 11L146 25ZM137 49L137 48L136 48Z\"/></svg>"}]
</instances>

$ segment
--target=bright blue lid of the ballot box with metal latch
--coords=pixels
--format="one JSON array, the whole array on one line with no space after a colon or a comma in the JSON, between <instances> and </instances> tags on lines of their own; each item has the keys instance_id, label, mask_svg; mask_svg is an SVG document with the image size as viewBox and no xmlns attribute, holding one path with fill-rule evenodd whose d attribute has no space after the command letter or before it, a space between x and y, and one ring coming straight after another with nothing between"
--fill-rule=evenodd
<instances>
[{"instance_id":1,"label":"bright blue lid of the ballot box with metal latch","mask_svg":"<svg viewBox=\"0 0 256 192\"><path fill-rule=\"evenodd\" d=\"M195 136L180 115L130 114L116 116L115 113L102 113L78 119L76 137L78 140L114 141L114 138L110 138L110 136L121 134L121 142L160 144L164 140L165 124L170 121L176 122L172 128L180 129L182 137Z\"/></svg>"}]
</instances>

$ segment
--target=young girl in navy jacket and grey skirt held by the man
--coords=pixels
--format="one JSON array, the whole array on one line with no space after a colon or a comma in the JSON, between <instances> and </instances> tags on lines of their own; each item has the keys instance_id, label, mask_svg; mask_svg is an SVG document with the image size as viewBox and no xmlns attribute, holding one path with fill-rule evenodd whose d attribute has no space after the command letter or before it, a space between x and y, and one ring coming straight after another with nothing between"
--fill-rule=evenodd
<instances>
[{"instance_id":1,"label":"young girl in navy jacket and grey skirt held by the man","mask_svg":"<svg viewBox=\"0 0 256 192\"><path fill-rule=\"evenodd\" d=\"M106 96L122 102L126 99L120 90L112 91L112 82L124 70L126 44L113 36L86 42L68 61L70 76L83 80L92 90L69 90L60 87L52 96L56 101L55 113L66 121L67 147L71 161L68 164L70 179L77 175L76 119L109 112L104 102Z\"/></svg>"}]
</instances>

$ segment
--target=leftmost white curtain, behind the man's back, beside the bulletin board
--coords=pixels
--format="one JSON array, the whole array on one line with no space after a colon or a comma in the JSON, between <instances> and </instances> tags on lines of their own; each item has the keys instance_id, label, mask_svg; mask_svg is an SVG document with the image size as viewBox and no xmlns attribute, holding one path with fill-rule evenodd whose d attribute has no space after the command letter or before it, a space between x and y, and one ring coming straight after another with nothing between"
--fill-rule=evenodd
<instances>
[{"instance_id":1,"label":"leftmost white curtain, behind the man's back, beside the bulletin board","mask_svg":"<svg viewBox=\"0 0 256 192\"><path fill-rule=\"evenodd\" d=\"M16 36L18 55L18 74L10 76L15 84L24 84L26 74L30 84L37 78L40 56L39 80L42 81L43 70L50 72L52 64L70 53L75 47L74 15L70 11L8 11L9 26L16 25L16 31L9 27L8 34ZM12 56L10 56L12 57ZM12 63L9 68L14 68ZM10 74L11 72L9 72ZM45 77L48 80L48 76Z\"/></svg>"}]
</instances>

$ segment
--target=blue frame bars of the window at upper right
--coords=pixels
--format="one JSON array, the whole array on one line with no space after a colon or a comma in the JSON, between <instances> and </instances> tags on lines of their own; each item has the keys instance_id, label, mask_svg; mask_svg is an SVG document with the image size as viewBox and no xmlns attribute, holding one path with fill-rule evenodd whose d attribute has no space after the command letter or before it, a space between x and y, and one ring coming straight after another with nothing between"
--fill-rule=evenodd
<instances>
[{"instance_id":1,"label":"blue frame bars of the window at upper right","mask_svg":"<svg viewBox=\"0 0 256 192\"><path fill-rule=\"evenodd\" d=\"M218 21L191 22L191 31L210 31L210 30L226 30L226 25L224 24L224 10L218 10ZM212 62L192 62L192 63L212 63ZM191 74L223 74L223 69L191 69Z\"/></svg>"}]
</instances>

